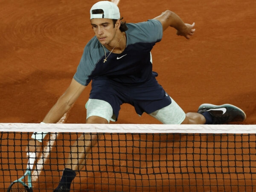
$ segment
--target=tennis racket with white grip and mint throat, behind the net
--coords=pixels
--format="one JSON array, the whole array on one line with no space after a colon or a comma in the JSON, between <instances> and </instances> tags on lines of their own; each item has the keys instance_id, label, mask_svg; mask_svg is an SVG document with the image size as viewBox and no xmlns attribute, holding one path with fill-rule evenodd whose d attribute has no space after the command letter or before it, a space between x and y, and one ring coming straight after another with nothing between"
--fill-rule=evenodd
<instances>
[{"instance_id":1,"label":"tennis racket with white grip and mint throat, behind the net","mask_svg":"<svg viewBox=\"0 0 256 192\"><path fill-rule=\"evenodd\" d=\"M33 192L31 183L31 170L35 163L35 152L29 152L29 160L26 167L26 172L22 177L13 181L8 187L7 192ZM23 179L27 177L27 184Z\"/></svg>"}]
</instances>

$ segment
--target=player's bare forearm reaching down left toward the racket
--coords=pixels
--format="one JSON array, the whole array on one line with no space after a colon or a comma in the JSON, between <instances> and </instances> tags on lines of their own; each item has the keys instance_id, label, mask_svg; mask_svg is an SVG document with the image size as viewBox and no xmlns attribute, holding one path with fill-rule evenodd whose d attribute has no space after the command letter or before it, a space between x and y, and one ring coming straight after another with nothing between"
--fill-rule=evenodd
<instances>
[{"instance_id":1,"label":"player's bare forearm reaching down left toward the racket","mask_svg":"<svg viewBox=\"0 0 256 192\"><path fill-rule=\"evenodd\" d=\"M71 108L71 106L76 102L76 99L81 95L85 86L78 83L75 79L72 79L69 87L64 92L58 101L53 105L47 115L44 117L44 123L56 123L61 117ZM41 151L40 140L29 140L29 146L27 151Z\"/></svg>"}]
</instances>

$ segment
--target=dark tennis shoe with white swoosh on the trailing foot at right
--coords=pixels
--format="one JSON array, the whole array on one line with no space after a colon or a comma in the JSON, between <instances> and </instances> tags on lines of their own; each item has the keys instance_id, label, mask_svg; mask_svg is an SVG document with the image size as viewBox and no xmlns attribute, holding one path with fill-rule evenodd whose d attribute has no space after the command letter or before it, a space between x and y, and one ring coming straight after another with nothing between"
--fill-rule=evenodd
<instances>
[{"instance_id":1,"label":"dark tennis shoe with white swoosh on the trailing foot at right","mask_svg":"<svg viewBox=\"0 0 256 192\"><path fill-rule=\"evenodd\" d=\"M242 122L246 119L246 114L240 108L230 105L202 104L198 108L198 113L208 111L213 118L213 124L225 124L228 122Z\"/></svg>"}]
</instances>

